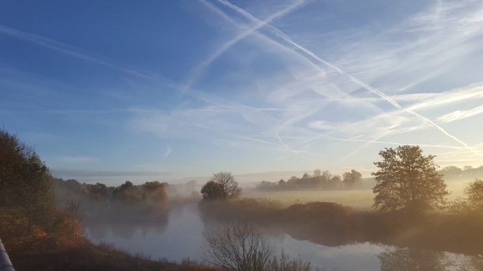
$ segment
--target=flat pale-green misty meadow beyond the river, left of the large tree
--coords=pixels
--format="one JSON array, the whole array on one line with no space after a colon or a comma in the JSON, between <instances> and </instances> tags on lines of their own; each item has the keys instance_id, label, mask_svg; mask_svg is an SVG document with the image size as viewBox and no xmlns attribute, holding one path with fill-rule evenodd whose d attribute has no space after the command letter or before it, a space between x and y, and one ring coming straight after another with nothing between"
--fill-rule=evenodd
<instances>
[{"instance_id":1,"label":"flat pale-green misty meadow beyond the river, left of the large tree","mask_svg":"<svg viewBox=\"0 0 483 271\"><path fill-rule=\"evenodd\" d=\"M455 183L448 183L449 201L462 196L463 188ZM280 201L284 207L295 203L309 203L313 201L327 201L353 207L359 210L369 210L373 204L374 194L371 189L340 189L340 190L293 190L276 192L246 192L243 198L269 198ZM298 200L298 201L297 201Z\"/></svg>"}]
</instances>

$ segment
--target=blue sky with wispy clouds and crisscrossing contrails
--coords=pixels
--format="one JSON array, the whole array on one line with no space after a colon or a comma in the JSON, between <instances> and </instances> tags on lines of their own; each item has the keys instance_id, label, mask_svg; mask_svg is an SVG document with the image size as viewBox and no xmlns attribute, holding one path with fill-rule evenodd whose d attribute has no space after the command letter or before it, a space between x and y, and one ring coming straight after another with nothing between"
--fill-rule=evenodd
<instances>
[{"instance_id":1,"label":"blue sky with wispy clouds and crisscrossing contrails","mask_svg":"<svg viewBox=\"0 0 483 271\"><path fill-rule=\"evenodd\" d=\"M0 0L0 126L121 183L483 165L483 1Z\"/></svg>"}]
</instances>

